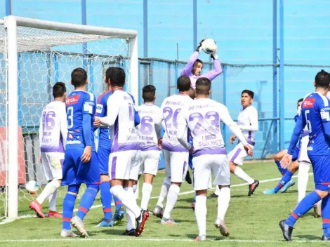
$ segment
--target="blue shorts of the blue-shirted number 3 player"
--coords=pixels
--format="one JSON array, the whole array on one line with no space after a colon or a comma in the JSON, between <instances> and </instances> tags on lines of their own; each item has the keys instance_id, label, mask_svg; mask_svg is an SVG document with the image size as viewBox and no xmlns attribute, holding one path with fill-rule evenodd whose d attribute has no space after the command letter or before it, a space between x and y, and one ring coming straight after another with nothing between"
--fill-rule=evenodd
<instances>
[{"instance_id":1,"label":"blue shorts of the blue-shirted number 3 player","mask_svg":"<svg viewBox=\"0 0 330 247\"><path fill-rule=\"evenodd\" d=\"M91 160L83 163L80 160L84 150L65 150L62 168L62 185L93 185L100 183L98 155L92 152Z\"/></svg>"}]
</instances>

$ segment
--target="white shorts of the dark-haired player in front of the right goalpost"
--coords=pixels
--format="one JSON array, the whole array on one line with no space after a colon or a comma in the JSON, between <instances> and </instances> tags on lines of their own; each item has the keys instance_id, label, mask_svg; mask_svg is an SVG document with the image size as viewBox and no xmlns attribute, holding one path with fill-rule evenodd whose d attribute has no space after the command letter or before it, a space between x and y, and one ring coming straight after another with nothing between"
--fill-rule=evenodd
<instances>
[{"instance_id":1,"label":"white shorts of the dark-haired player in front of the right goalpost","mask_svg":"<svg viewBox=\"0 0 330 247\"><path fill-rule=\"evenodd\" d=\"M136 150L113 152L109 156L110 180L128 180L131 171L131 160Z\"/></svg>"}]
</instances>

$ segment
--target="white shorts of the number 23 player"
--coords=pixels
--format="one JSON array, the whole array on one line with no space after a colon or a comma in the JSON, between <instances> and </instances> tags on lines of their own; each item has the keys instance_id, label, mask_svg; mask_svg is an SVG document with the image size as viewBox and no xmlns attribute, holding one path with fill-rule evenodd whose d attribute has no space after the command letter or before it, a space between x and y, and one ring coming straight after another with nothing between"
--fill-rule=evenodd
<instances>
[{"instance_id":1,"label":"white shorts of the number 23 player","mask_svg":"<svg viewBox=\"0 0 330 247\"><path fill-rule=\"evenodd\" d=\"M230 167L225 154L204 154L192 159L194 190L209 188L211 173L213 185L230 185Z\"/></svg>"}]
</instances>

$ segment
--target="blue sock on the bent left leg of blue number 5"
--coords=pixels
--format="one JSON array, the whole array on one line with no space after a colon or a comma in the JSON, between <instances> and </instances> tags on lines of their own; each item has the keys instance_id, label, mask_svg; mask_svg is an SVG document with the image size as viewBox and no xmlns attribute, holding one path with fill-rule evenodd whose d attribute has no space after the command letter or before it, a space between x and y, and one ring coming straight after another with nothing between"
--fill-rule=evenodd
<instances>
[{"instance_id":1,"label":"blue sock on the bent left leg of blue number 5","mask_svg":"<svg viewBox=\"0 0 330 247\"><path fill-rule=\"evenodd\" d=\"M293 227L298 218L310 211L310 208L312 208L319 200L321 200L321 197L319 197L315 191L310 192L310 194L305 196L305 198L298 203L296 208L293 210L293 213L291 213L291 215L289 215L286 219L285 224L289 225L289 227Z\"/></svg>"}]
</instances>

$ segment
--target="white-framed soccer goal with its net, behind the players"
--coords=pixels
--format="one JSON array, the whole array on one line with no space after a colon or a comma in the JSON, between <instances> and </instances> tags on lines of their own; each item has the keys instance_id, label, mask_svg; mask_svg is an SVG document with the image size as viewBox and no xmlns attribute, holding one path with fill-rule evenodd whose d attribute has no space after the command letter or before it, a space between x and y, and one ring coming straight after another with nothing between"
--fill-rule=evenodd
<instances>
[{"instance_id":1,"label":"white-framed soccer goal with its net, behind the players","mask_svg":"<svg viewBox=\"0 0 330 247\"><path fill-rule=\"evenodd\" d=\"M96 97L107 90L103 73L122 67L126 90L138 100L137 32L125 29L72 25L9 16L0 21L0 218L32 214L35 195L25 183L46 185L39 162L39 119L53 100L57 81L74 88L70 75L82 67L88 91ZM48 204L48 203L46 203Z\"/></svg>"}]
</instances>

